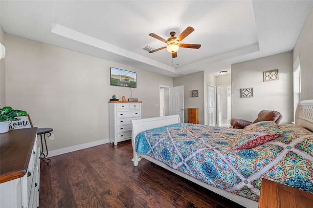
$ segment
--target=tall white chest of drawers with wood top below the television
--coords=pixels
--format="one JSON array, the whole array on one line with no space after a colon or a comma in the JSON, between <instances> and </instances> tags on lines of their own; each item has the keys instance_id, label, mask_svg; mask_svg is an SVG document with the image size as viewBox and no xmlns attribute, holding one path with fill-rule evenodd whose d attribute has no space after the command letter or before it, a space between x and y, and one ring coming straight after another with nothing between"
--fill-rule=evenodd
<instances>
[{"instance_id":1,"label":"tall white chest of drawers with wood top below the television","mask_svg":"<svg viewBox=\"0 0 313 208\"><path fill-rule=\"evenodd\" d=\"M109 102L110 117L110 142L117 145L118 142L132 139L131 120L141 119L142 102Z\"/></svg>"}]
</instances>

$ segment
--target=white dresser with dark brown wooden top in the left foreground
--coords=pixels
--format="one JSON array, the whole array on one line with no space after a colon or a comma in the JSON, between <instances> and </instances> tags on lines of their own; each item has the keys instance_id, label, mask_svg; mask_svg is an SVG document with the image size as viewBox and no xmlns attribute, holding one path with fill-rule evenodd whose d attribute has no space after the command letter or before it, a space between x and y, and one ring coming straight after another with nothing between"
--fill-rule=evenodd
<instances>
[{"instance_id":1,"label":"white dresser with dark brown wooden top in the left foreground","mask_svg":"<svg viewBox=\"0 0 313 208\"><path fill-rule=\"evenodd\" d=\"M0 138L0 207L38 207L40 148L37 127L10 130L0 134Z\"/></svg>"}]
</instances>

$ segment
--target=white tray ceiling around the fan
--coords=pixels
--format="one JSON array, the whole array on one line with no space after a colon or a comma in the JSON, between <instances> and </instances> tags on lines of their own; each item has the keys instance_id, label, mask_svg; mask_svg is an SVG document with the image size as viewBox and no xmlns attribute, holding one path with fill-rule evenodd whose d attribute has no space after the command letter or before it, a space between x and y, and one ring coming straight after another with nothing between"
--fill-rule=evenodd
<instances>
[{"instance_id":1,"label":"white tray ceiling around the fan","mask_svg":"<svg viewBox=\"0 0 313 208\"><path fill-rule=\"evenodd\" d=\"M230 64L291 51L313 0L0 0L5 33L171 77L230 72ZM142 50L195 31L172 59Z\"/></svg>"}]
</instances>

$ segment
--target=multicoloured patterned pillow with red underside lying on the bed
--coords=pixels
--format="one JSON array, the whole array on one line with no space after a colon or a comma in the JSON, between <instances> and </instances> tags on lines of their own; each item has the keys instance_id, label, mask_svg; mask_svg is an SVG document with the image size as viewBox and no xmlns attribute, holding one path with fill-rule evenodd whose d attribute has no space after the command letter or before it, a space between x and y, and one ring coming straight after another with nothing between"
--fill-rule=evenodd
<instances>
[{"instance_id":1,"label":"multicoloured patterned pillow with red underside lying on the bed","mask_svg":"<svg viewBox=\"0 0 313 208\"><path fill-rule=\"evenodd\" d=\"M275 139L283 134L279 126L272 121L258 122L246 126L234 140L233 148L250 149Z\"/></svg>"}]
</instances>

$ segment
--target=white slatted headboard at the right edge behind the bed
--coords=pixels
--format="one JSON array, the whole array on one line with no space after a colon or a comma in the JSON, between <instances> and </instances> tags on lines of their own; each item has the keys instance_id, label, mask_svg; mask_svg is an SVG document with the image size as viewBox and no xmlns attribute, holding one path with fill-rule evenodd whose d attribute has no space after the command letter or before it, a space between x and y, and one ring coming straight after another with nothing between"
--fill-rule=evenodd
<instances>
[{"instance_id":1,"label":"white slatted headboard at the right edge behind the bed","mask_svg":"<svg viewBox=\"0 0 313 208\"><path fill-rule=\"evenodd\" d=\"M313 131L313 100L299 102L295 111L295 124Z\"/></svg>"}]
</instances>

